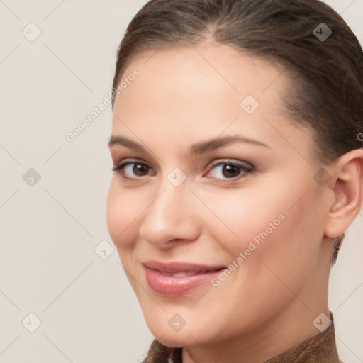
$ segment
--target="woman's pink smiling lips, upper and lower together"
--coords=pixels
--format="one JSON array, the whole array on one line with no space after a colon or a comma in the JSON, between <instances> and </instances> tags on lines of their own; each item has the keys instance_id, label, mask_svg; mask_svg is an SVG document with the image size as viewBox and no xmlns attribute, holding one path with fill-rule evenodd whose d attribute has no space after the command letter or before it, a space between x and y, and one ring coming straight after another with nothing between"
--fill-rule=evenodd
<instances>
[{"instance_id":1,"label":"woman's pink smiling lips, upper and lower together","mask_svg":"<svg viewBox=\"0 0 363 363\"><path fill-rule=\"evenodd\" d=\"M185 262L143 262L147 283L157 294L177 297L207 284L225 269L223 265Z\"/></svg>"}]
</instances>

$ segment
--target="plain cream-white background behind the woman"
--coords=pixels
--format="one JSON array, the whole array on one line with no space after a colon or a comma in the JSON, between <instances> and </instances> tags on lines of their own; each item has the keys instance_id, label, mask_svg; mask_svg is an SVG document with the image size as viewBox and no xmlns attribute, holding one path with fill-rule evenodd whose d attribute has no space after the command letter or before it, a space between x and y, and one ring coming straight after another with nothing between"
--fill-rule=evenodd
<instances>
[{"instance_id":1,"label":"plain cream-white background behind the woman","mask_svg":"<svg viewBox=\"0 0 363 363\"><path fill-rule=\"evenodd\" d=\"M363 0L326 2L362 43ZM0 0L1 363L131 363L152 341L106 225L111 106L65 138L111 90L118 43L143 4ZM33 42L30 22L42 32ZM363 362L362 235L361 212L330 277L345 363Z\"/></svg>"}]
</instances>

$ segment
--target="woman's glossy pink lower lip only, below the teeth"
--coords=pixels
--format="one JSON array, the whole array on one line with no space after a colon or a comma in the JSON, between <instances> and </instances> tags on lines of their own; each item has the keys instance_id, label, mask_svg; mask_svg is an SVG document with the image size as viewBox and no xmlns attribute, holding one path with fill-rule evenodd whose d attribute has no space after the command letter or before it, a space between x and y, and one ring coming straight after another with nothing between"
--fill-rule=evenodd
<instances>
[{"instance_id":1,"label":"woman's glossy pink lower lip only, below the teeth","mask_svg":"<svg viewBox=\"0 0 363 363\"><path fill-rule=\"evenodd\" d=\"M157 294L162 296L177 297L188 294L201 285L208 284L211 279L218 277L223 269L206 274L196 274L193 276L165 276L155 269L145 267L147 284Z\"/></svg>"}]
</instances>

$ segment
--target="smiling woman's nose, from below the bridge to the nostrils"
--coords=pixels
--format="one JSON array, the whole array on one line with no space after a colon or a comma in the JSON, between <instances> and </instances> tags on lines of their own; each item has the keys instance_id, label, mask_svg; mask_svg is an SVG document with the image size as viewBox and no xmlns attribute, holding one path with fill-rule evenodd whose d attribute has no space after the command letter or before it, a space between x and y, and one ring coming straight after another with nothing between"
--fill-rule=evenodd
<instances>
[{"instance_id":1,"label":"smiling woman's nose, from below the bridge to the nostrils","mask_svg":"<svg viewBox=\"0 0 363 363\"><path fill-rule=\"evenodd\" d=\"M169 248L176 240L197 240L201 228L197 202L186 181L174 186L166 180L145 211L140 237L159 248Z\"/></svg>"}]
</instances>

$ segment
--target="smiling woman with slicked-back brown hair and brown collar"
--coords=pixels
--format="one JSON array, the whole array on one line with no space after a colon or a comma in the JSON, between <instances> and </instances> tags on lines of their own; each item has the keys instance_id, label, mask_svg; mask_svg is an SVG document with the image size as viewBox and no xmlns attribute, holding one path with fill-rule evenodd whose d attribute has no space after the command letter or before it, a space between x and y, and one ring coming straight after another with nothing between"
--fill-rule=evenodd
<instances>
[{"instance_id":1,"label":"smiling woman with slicked-back brown hair and brown collar","mask_svg":"<svg viewBox=\"0 0 363 363\"><path fill-rule=\"evenodd\" d=\"M363 54L318 0L151 0L118 49L108 229L151 362L340 362Z\"/></svg>"}]
</instances>

